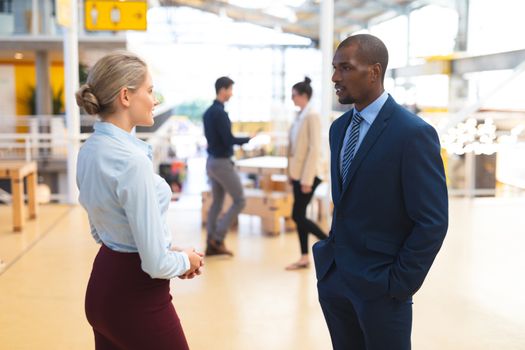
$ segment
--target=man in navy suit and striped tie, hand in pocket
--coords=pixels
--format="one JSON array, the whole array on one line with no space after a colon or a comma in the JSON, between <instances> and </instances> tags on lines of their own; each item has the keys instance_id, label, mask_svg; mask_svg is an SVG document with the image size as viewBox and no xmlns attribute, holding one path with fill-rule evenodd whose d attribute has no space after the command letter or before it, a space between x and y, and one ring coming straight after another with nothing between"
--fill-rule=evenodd
<instances>
[{"instance_id":1,"label":"man in navy suit and striped tie, hand in pocket","mask_svg":"<svg viewBox=\"0 0 525 350\"><path fill-rule=\"evenodd\" d=\"M337 48L332 81L354 104L330 128L334 213L313 253L319 300L337 350L407 350L412 296L448 227L434 128L383 88L388 51L362 34Z\"/></svg>"}]
</instances>

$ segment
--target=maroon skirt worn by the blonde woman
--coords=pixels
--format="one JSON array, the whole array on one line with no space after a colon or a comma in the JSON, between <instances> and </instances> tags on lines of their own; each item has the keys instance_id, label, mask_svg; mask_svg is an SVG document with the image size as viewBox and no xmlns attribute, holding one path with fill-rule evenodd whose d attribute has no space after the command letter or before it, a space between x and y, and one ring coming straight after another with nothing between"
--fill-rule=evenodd
<instances>
[{"instance_id":1,"label":"maroon skirt worn by the blonde woman","mask_svg":"<svg viewBox=\"0 0 525 350\"><path fill-rule=\"evenodd\" d=\"M170 281L151 278L140 264L138 253L100 247L85 305L96 349L187 350Z\"/></svg>"}]
</instances>

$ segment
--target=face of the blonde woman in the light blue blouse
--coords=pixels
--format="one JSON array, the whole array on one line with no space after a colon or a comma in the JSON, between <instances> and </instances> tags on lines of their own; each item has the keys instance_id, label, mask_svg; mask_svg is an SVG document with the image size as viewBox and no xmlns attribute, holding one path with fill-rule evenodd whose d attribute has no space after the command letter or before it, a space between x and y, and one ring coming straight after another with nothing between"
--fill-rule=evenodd
<instances>
[{"instance_id":1,"label":"face of the blonde woman in the light blue blouse","mask_svg":"<svg viewBox=\"0 0 525 350\"><path fill-rule=\"evenodd\" d=\"M159 101L153 95L153 83L150 73L146 73L146 79L135 91L129 93L129 114L131 122L138 126L153 125L153 109Z\"/></svg>"}]
</instances>

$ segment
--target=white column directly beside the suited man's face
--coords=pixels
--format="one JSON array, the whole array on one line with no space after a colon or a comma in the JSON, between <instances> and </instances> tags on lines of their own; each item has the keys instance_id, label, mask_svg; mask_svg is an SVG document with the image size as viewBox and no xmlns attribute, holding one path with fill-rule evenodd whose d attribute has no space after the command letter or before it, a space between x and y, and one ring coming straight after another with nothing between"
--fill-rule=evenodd
<instances>
[{"instance_id":1,"label":"white column directly beside the suited man's face","mask_svg":"<svg viewBox=\"0 0 525 350\"><path fill-rule=\"evenodd\" d=\"M328 130L330 126L330 117L332 112L332 59L333 59L333 45L334 45L334 0L321 1L320 14L320 28L319 41L321 46L322 57L322 71L321 71L321 123L322 123L322 140L323 150L322 155L326 159L327 178L326 182L330 188L330 147L328 145ZM330 214L330 191L326 191L327 195L324 200L324 212L329 216ZM329 221L329 220L328 220Z\"/></svg>"}]
</instances>

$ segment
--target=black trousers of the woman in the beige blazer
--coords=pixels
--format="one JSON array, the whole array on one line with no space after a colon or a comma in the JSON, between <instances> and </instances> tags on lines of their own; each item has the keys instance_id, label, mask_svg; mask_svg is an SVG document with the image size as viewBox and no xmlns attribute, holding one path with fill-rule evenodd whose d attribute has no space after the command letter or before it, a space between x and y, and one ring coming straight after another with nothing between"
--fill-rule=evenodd
<instances>
[{"instance_id":1,"label":"black trousers of the woman in the beige blazer","mask_svg":"<svg viewBox=\"0 0 525 350\"><path fill-rule=\"evenodd\" d=\"M319 239L326 239L326 233L317 226L317 224L306 217L306 208L314 196L315 189L321 183L321 179L316 177L312 185L310 193L303 193L301 191L301 182L292 181L293 185L293 210L292 219L297 225L297 233L299 234L299 243L301 245L301 254L308 254L308 233L312 233Z\"/></svg>"}]
</instances>

